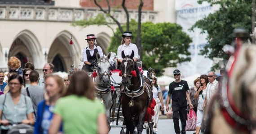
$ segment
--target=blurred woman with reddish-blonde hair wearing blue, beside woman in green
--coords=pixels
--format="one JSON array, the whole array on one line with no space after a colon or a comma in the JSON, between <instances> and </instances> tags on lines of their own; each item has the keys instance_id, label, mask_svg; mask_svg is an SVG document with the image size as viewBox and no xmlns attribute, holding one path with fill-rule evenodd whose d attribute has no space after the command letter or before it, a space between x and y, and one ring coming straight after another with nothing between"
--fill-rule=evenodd
<instances>
[{"instance_id":1,"label":"blurred woman with reddish-blonde hair wearing blue, beside woman in green","mask_svg":"<svg viewBox=\"0 0 256 134\"><path fill-rule=\"evenodd\" d=\"M47 97L38 104L34 134L48 134L55 103L66 89L63 79L58 75L46 75L44 80ZM62 127L58 132L62 132Z\"/></svg>"}]
</instances>

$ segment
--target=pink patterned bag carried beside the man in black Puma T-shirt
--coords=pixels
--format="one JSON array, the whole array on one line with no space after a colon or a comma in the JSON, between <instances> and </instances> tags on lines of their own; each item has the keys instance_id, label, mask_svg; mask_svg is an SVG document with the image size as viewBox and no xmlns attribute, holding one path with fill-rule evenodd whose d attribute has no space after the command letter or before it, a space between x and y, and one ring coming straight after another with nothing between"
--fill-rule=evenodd
<instances>
[{"instance_id":1,"label":"pink patterned bag carried beside the man in black Puma T-shirt","mask_svg":"<svg viewBox=\"0 0 256 134\"><path fill-rule=\"evenodd\" d=\"M187 117L186 131L194 131L196 129L196 114L194 109L190 109Z\"/></svg>"}]
</instances>

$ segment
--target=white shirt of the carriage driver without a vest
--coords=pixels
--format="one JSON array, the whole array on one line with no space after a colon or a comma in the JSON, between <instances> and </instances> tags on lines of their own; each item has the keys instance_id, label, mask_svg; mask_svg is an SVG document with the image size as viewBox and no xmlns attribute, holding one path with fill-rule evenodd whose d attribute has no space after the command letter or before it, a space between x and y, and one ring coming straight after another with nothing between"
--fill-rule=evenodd
<instances>
[{"instance_id":1,"label":"white shirt of the carriage driver without a vest","mask_svg":"<svg viewBox=\"0 0 256 134\"><path fill-rule=\"evenodd\" d=\"M133 58L139 59L138 48L137 48L137 46L135 44L132 44L132 43L130 43L128 46L123 44L123 45L120 45L118 47L118 49L117 49L118 59L123 59L122 58L122 51L124 51L125 55L131 55L132 54L132 50L134 51Z\"/></svg>"}]
</instances>

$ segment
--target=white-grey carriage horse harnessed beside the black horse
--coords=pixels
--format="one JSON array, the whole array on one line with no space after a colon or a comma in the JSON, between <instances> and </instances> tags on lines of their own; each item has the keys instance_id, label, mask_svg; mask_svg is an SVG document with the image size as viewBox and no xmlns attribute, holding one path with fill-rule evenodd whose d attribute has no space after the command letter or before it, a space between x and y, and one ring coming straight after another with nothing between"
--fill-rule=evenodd
<instances>
[{"instance_id":1,"label":"white-grey carriage horse harnessed beside the black horse","mask_svg":"<svg viewBox=\"0 0 256 134\"><path fill-rule=\"evenodd\" d=\"M110 123L110 108L111 108L111 83L110 83L110 59L111 53L107 56L100 57L97 53L97 65L91 77L93 77L93 83L95 84L95 94L106 106L106 116L108 123Z\"/></svg>"}]
</instances>

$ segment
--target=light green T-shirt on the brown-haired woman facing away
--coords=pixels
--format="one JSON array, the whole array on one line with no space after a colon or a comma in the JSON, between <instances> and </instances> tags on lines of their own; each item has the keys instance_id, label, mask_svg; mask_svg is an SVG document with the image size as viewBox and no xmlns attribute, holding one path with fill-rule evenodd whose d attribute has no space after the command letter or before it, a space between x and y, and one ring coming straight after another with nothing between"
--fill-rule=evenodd
<instances>
[{"instance_id":1,"label":"light green T-shirt on the brown-haired woman facing away","mask_svg":"<svg viewBox=\"0 0 256 134\"><path fill-rule=\"evenodd\" d=\"M97 134L97 118L105 110L98 99L70 95L57 100L54 113L62 117L65 134Z\"/></svg>"}]
</instances>

